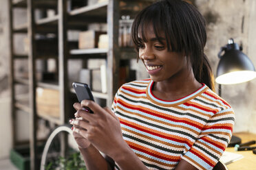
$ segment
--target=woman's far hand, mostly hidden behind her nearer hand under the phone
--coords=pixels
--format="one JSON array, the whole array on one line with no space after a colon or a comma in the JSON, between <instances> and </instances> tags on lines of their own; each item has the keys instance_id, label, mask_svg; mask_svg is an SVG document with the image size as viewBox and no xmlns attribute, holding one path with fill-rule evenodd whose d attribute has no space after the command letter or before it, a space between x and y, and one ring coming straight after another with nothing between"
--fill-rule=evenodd
<instances>
[{"instance_id":1,"label":"woman's far hand, mostly hidden behind her nearer hand under the phone","mask_svg":"<svg viewBox=\"0 0 256 170\"><path fill-rule=\"evenodd\" d=\"M75 103L73 105L73 107L76 109L76 111L84 110L84 108L79 103ZM76 117L76 119L71 119L70 123L72 124L72 122L79 121L79 120L83 120L83 118ZM91 143L87 139L85 139L83 136L81 136L80 134L78 134L74 131L74 126L72 127L72 130L73 130L74 139L76 140L78 147L85 149L85 148L89 147L89 145L91 145Z\"/></svg>"}]
</instances>

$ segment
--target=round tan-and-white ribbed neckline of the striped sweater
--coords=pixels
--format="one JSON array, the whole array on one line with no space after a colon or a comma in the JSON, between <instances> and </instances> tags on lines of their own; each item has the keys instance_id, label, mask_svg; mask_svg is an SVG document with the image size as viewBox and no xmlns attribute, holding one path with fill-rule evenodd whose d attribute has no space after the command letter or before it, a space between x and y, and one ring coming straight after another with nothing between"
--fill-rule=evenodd
<instances>
[{"instance_id":1,"label":"round tan-and-white ribbed neckline of the striped sweater","mask_svg":"<svg viewBox=\"0 0 256 170\"><path fill-rule=\"evenodd\" d=\"M202 93L204 93L204 91L206 91L208 89L208 87L206 86L206 84L202 84L202 87L200 87L198 90L196 90L195 92L191 93L190 95L187 95L185 97L182 97L180 99L176 99L173 101L166 101L163 99L158 99L158 97L156 97L155 95L153 95L152 93L152 88L153 88L153 84L155 82L153 82L153 80L150 80L149 84L147 85L147 98L152 101L154 104L160 105L160 106L178 106L180 104L184 104L186 101L189 101L191 99L194 99L195 97L197 97L198 95L201 95Z\"/></svg>"}]
</instances>

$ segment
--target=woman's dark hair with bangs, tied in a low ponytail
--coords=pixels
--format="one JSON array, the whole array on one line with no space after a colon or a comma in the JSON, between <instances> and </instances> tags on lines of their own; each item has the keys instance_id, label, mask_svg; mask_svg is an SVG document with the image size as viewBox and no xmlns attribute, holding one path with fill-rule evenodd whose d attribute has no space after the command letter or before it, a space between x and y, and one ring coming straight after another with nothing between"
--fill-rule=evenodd
<instances>
[{"instance_id":1,"label":"woman's dark hair with bangs, tied in a low ponytail","mask_svg":"<svg viewBox=\"0 0 256 170\"><path fill-rule=\"evenodd\" d=\"M213 73L204 55L206 23L202 14L182 0L162 0L149 5L136 16L131 27L137 58L141 39L147 42L145 32L149 25L153 25L159 42L162 42L160 34L164 33L169 51L184 52L189 57L195 79L214 90Z\"/></svg>"}]
</instances>

